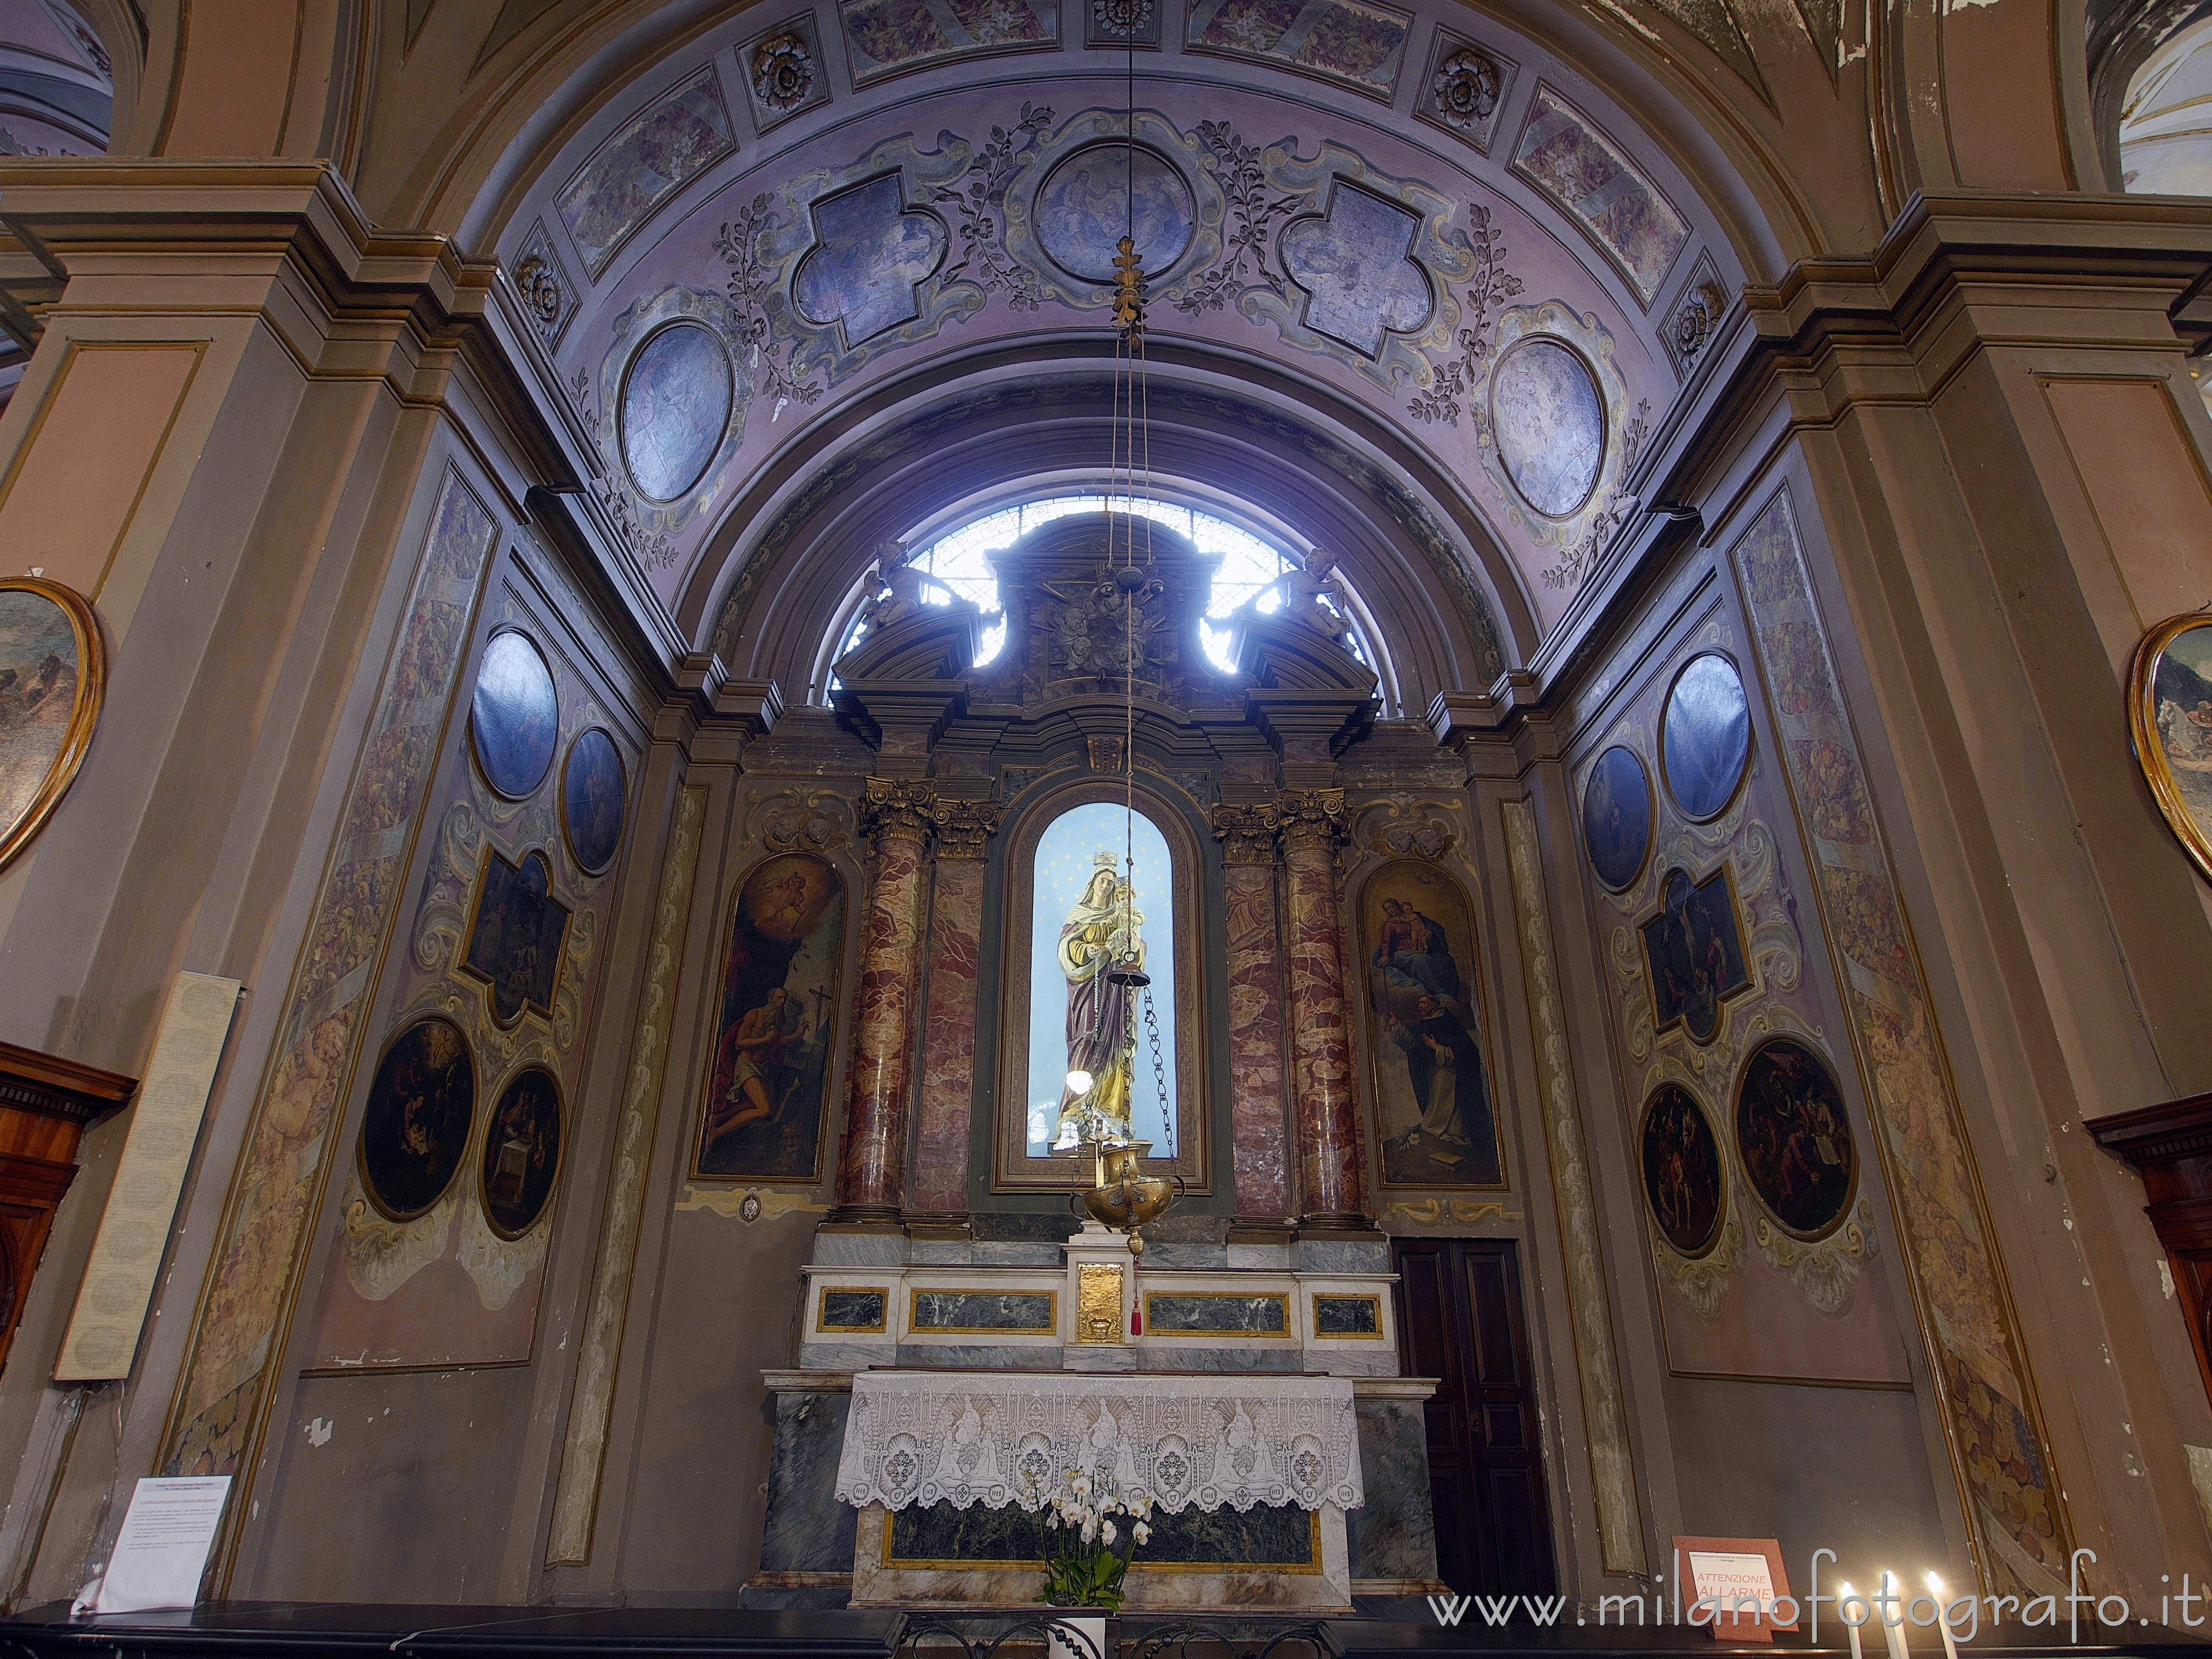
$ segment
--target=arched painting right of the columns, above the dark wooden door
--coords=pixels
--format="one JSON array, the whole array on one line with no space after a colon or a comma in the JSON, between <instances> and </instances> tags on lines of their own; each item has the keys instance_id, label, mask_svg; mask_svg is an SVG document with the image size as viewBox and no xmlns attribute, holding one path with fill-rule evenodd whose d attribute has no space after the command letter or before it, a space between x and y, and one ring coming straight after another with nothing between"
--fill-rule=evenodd
<instances>
[{"instance_id":1,"label":"arched painting right of the columns, above the dark wooden door","mask_svg":"<svg viewBox=\"0 0 2212 1659\"><path fill-rule=\"evenodd\" d=\"M1467 896L1440 869L1398 860L1360 889L1385 1186L1504 1186L1473 942Z\"/></svg>"}]
</instances>

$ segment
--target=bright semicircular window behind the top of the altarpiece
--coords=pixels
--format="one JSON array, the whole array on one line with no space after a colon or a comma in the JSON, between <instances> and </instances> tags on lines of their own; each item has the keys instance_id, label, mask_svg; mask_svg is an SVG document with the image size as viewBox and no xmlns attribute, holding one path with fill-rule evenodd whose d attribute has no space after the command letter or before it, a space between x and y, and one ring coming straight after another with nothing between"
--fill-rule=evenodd
<instances>
[{"instance_id":1,"label":"bright semicircular window behind the top of the altarpiece","mask_svg":"<svg viewBox=\"0 0 2212 1659\"><path fill-rule=\"evenodd\" d=\"M1221 555L1221 564L1214 568L1212 599L1206 606L1206 617L1199 619L1199 637L1206 644L1206 657L1214 664L1214 668L1225 675L1237 672L1237 661L1230 657L1232 630L1225 617L1239 606L1250 604L1254 597L1259 599L1261 611L1274 611L1281 606L1283 593L1276 584L1285 573L1301 568L1303 560L1287 549L1254 535L1243 524L1232 524L1230 520L1199 507L1179 507L1159 500L1130 500L1128 495L1106 495L1104 491L1046 495L1042 500L1022 502L1020 507L1000 507L982 518L971 518L953 531L936 535L911 560L916 571L931 577L931 586L922 591L922 597L936 604L949 604L953 597L960 597L978 606L989 617L998 611L998 577L991 573L993 553L1013 546L1033 529L1051 524L1055 518L1106 511L1141 513L1144 518L1166 524L1177 535L1186 535L1199 553ZM1340 571L1338 582L1343 582ZM1345 591L1349 593L1349 588ZM856 591L841 613L836 646L827 653L821 675L825 692L836 690L836 677L830 672L827 664L858 646L860 635L865 633L865 624L858 619L860 597L863 595ZM1378 657L1367 644L1365 617L1347 615L1345 624L1352 630L1352 655L1380 672ZM975 644L975 666L980 668L993 661L1004 648L1006 624L1000 617L984 626L982 637Z\"/></svg>"}]
</instances>

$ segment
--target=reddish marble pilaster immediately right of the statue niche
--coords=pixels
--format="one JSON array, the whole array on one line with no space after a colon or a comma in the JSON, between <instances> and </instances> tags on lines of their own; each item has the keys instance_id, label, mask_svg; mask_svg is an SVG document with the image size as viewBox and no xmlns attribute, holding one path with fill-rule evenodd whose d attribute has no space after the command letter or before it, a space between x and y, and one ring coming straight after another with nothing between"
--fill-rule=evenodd
<instances>
[{"instance_id":1,"label":"reddish marble pilaster immediately right of the statue niche","mask_svg":"<svg viewBox=\"0 0 2212 1659\"><path fill-rule=\"evenodd\" d=\"M1290 1217L1283 1113L1283 929L1274 805L1214 807L1230 945L1230 1152L1237 1219Z\"/></svg>"}]
</instances>

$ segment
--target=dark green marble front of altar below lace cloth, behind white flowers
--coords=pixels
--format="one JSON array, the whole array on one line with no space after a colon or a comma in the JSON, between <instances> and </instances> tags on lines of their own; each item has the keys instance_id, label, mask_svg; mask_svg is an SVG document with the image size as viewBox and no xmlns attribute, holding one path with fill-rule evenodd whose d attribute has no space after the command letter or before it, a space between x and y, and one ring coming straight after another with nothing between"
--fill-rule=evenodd
<instances>
[{"instance_id":1,"label":"dark green marble front of altar below lace cloth, behind white flowers","mask_svg":"<svg viewBox=\"0 0 2212 1659\"><path fill-rule=\"evenodd\" d=\"M891 1513L883 1564L920 1566L1031 1566L1040 1562L1037 1517L1006 1509L909 1504ZM1197 1504L1181 1515L1152 1511L1152 1542L1137 1551L1137 1571L1265 1566L1274 1573L1321 1571L1321 1515L1310 1509L1254 1504L1243 1515L1223 1504Z\"/></svg>"}]
</instances>

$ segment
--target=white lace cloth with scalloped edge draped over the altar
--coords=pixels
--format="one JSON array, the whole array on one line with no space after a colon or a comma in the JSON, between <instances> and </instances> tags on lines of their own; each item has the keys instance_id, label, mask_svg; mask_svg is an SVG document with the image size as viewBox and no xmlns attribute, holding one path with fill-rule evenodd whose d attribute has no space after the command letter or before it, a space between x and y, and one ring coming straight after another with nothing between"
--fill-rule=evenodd
<instances>
[{"instance_id":1,"label":"white lace cloth with scalloped edge draped over the altar","mask_svg":"<svg viewBox=\"0 0 2212 1659\"><path fill-rule=\"evenodd\" d=\"M836 1495L865 1509L1035 1509L1073 1471L1159 1509L1358 1509L1352 1378L858 1371Z\"/></svg>"}]
</instances>

